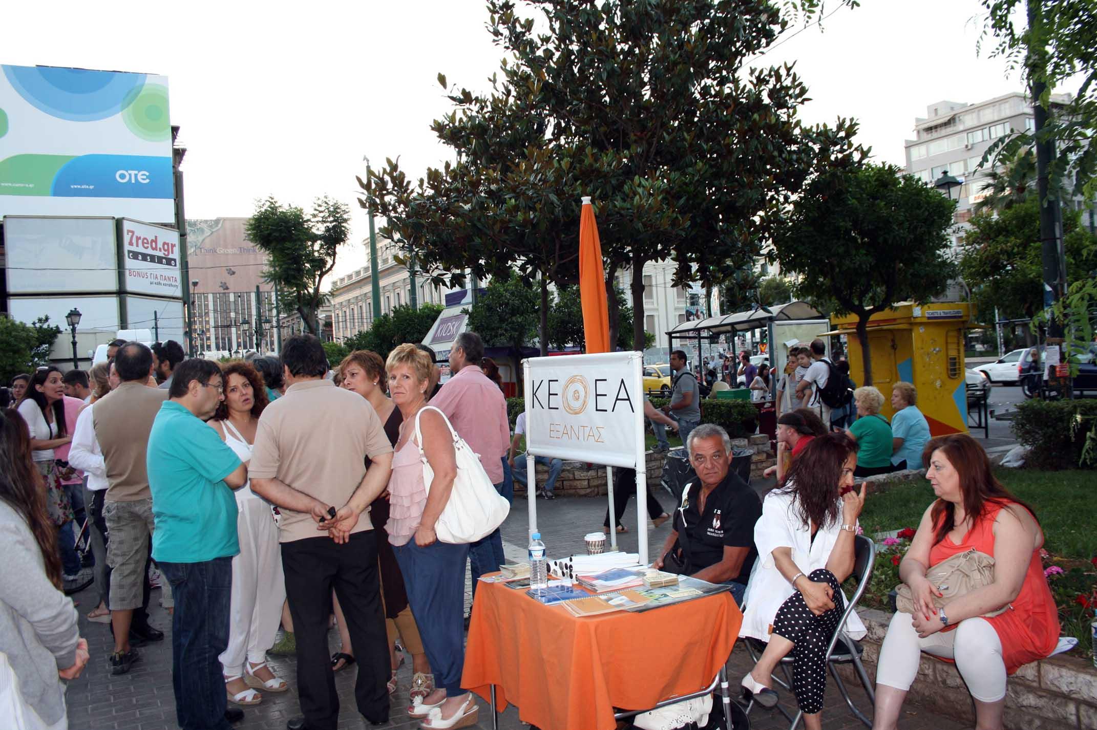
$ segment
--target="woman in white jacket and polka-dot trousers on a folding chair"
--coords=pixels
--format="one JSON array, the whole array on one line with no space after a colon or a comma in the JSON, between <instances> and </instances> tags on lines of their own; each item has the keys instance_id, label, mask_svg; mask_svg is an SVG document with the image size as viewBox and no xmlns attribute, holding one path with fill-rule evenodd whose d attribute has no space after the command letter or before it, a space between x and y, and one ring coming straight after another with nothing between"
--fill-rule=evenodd
<instances>
[{"instance_id":1,"label":"woman in white jacket and polka-dot trousers on a folding chair","mask_svg":"<svg viewBox=\"0 0 1097 730\"><path fill-rule=\"evenodd\" d=\"M840 433L817 436L792 463L782 484L766 495L755 525L758 561L739 636L768 643L743 677L743 693L773 707L771 675L795 648L792 689L807 730L822 727L826 648L846 608L841 582L853 571L853 537L866 489L852 489L856 468L857 442ZM846 631L855 639L864 636L856 613Z\"/></svg>"}]
</instances>

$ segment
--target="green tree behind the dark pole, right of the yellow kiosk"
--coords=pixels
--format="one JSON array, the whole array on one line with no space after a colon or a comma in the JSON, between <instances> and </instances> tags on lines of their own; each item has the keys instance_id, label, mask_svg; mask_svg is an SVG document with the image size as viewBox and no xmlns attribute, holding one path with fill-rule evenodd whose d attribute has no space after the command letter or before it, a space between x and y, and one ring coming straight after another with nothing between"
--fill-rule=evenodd
<instances>
[{"instance_id":1,"label":"green tree behind the dark pole, right of the yellow kiosk","mask_svg":"<svg viewBox=\"0 0 1097 730\"><path fill-rule=\"evenodd\" d=\"M1063 212L1068 283L1097 273L1097 239L1079 225L1082 214ZM960 274L984 322L994 309L1005 319L1031 319L1043 308L1040 260L1040 204L1037 196L1002 209L972 216L960 256Z\"/></svg>"}]
</instances>

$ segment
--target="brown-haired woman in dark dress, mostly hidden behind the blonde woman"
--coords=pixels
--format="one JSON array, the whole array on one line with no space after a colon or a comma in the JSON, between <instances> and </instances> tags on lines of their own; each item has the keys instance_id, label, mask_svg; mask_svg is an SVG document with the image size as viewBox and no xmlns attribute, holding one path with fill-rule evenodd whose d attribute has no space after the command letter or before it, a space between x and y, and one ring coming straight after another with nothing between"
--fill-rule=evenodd
<instances>
[{"instance_id":1,"label":"brown-haired woman in dark dress, mostly hidden behind the blonde woman","mask_svg":"<svg viewBox=\"0 0 1097 730\"><path fill-rule=\"evenodd\" d=\"M404 417L400 409L386 395L388 389L385 374L385 362L381 355L369 350L355 350L339 364L339 375L342 387L352 390L370 401L377 412L377 418L385 424L385 435L393 446L399 441L400 423ZM369 459L366 459L369 468ZM377 531L377 562L381 570L381 595L385 605L385 628L388 634L388 653L392 660L393 674L388 681L388 694L396 692L396 670L404 661L404 655L396 651L396 637L404 640L404 648L411 654L411 689L408 693L411 700L422 698L434 692L434 675L430 671L430 662L422 647L419 627L416 626L411 606L408 605L407 592L404 589L404 574L396 562L396 555L388 544L385 523L388 522L388 494L383 494L370 505L370 521ZM347 665L346 654L351 651L350 634L343 626L342 611L338 598L335 600L336 616L339 620L339 637L342 648L332 657L332 666L338 662ZM340 657L339 654L344 654ZM351 654L353 655L353 654ZM353 661L353 660L351 660ZM341 668L336 668L341 669Z\"/></svg>"}]
</instances>

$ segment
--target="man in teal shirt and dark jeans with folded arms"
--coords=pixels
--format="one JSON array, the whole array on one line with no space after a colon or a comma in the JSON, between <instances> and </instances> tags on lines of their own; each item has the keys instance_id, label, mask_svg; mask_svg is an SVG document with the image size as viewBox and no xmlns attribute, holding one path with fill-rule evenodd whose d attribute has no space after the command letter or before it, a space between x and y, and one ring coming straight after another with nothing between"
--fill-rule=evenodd
<instances>
[{"instance_id":1,"label":"man in teal shirt and dark jeans with folded arms","mask_svg":"<svg viewBox=\"0 0 1097 730\"><path fill-rule=\"evenodd\" d=\"M180 363L168 397L149 433L147 467L152 558L176 600L176 715L181 728L227 727L217 658L228 647L233 556L240 551L233 490L244 486L248 470L204 422L225 397L217 363Z\"/></svg>"}]
</instances>

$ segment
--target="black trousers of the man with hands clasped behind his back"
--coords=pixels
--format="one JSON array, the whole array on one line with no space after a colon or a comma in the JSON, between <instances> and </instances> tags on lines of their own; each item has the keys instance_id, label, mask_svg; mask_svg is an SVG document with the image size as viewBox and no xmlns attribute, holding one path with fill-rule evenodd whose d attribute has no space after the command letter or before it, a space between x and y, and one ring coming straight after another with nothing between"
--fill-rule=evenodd
<instances>
[{"instance_id":1,"label":"black trousers of the man with hands clasped behind his back","mask_svg":"<svg viewBox=\"0 0 1097 730\"><path fill-rule=\"evenodd\" d=\"M377 534L354 533L346 545L327 536L282 543L282 570L297 637L297 693L305 723L312 730L336 730L339 722L339 696L328 657L332 589L358 660L358 711L371 722L387 721L389 659L377 580Z\"/></svg>"}]
</instances>

